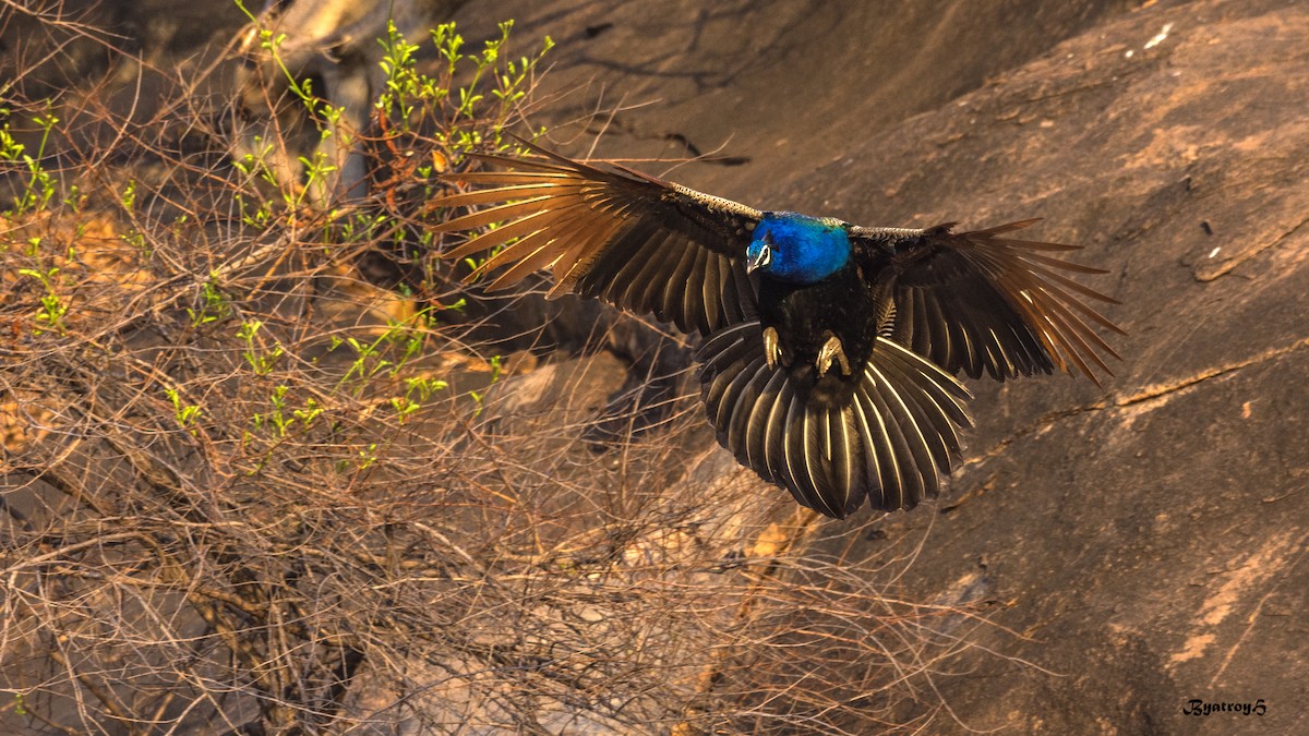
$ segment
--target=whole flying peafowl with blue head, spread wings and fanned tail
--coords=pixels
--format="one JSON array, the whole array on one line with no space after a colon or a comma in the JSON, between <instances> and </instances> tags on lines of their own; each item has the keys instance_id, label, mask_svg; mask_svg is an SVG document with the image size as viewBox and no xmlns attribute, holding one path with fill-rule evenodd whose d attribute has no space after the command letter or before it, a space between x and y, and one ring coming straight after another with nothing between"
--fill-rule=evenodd
<instances>
[{"instance_id":1,"label":"whole flying peafowl with blue head, spread wings and fanned tail","mask_svg":"<svg viewBox=\"0 0 1309 736\"><path fill-rule=\"evenodd\" d=\"M911 508L935 495L971 424L954 378L1055 368L1094 380L1118 329L1085 300L1113 301L1051 253L1073 246L990 230L863 228L763 212L617 164L478 156L509 170L450 174L492 189L437 199L493 207L436 225L471 230L446 253L495 251L490 288L551 268L576 292L699 333L698 373L719 443L829 516L868 499Z\"/></svg>"}]
</instances>

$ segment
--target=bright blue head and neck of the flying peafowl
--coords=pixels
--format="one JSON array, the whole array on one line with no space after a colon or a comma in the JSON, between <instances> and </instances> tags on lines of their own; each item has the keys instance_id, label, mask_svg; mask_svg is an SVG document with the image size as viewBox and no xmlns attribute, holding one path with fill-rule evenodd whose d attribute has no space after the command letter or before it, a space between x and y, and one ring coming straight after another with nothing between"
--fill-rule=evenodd
<instances>
[{"instance_id":1,"label":"bright blue head and neck of the flying peafowl","mask_svg":"<svg viewBox=\"0 0 1309 736\"><path fill-rule=\"evenodd\" d=\"M812 284L835 274L850 261L850 237L839 220L764 212L745 255L750 271Z\"/></svg>"}]
</instances>

